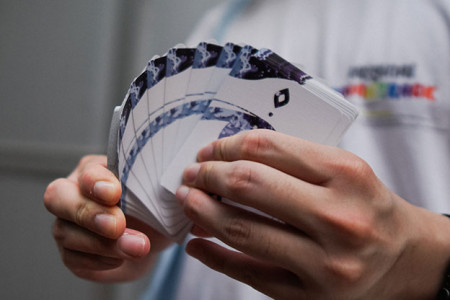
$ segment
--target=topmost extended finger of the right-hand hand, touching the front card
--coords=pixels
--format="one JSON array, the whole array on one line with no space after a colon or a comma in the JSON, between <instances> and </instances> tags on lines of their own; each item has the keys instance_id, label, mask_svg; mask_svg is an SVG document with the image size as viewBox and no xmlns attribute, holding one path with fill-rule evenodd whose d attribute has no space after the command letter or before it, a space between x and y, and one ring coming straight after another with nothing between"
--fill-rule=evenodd
<instances>
[{"instance_id":1,"label":"topmost extended finger of the right-hand hand, touching the front card","mask_svg":"<svg viewBox=\"0 0 450 300\"><path fill-rule=\"evenodd\" d=\"M272 130L250 130L212 142L202 148L198 161L250 160L313 184L324 184L334 177L330 168L348 156L345 151L309 142Z\"/></svg>"}]
</instances>

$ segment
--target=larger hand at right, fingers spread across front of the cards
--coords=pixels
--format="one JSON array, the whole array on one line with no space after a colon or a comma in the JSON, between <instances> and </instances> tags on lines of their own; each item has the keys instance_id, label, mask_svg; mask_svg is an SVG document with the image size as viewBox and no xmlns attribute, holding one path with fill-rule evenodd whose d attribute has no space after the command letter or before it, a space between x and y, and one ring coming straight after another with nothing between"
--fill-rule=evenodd
<instances>
[{"instance_id":1,"label":"larger hand at right, fingers spread across front of the cards","mask_svg":"<svg viewBox=\"0 0 450 300\"><path fill-rule=\"evenodd\" d=\"M355 155L266 130L200 150L177 191L187 252L276 299L432 299L450 260L447 218L388 190ZM210 193L274 218L221 203Z\"/></svg>"}]
</instances>

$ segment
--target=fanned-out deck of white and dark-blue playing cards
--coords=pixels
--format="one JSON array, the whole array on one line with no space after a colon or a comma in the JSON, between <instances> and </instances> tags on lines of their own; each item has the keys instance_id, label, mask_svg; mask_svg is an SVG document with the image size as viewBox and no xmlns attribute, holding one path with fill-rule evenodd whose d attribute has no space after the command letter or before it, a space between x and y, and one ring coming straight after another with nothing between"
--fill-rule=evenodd
<instances>
[{"instance_id":1,"label":"fanned-out deck of white and dark-blue playing cards","mask_svg":"<svg viewBox=\"0 0 450 300\"><path fill-rule=\"evenodd\" d=\"M335 145L357 116L341 95L269 49L202 42L153 57L114 111L108 167L121 207L182 242L184 168L216 139L255 128Z\"/></svg>"}]
</instances>

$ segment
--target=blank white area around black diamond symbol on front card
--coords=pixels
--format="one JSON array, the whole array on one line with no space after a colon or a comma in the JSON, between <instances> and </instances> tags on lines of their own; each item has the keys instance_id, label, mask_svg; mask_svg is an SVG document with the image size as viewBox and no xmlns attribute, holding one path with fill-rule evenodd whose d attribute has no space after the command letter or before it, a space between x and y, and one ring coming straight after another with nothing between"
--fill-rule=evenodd
<instances>
[{"instance_id":1,"label":"blank white area around black diamond symbol on front card","mask_svg":"<svg viewBox=\"0 0 450 300\"><path fill-rule=\"evenodd\" d=\"M276 131L319 143L327 141L331 130L341 120L341 114L330 105L317 101L317 96L287 79L245 81L228 77L216 98L241 105L267 120ZM246 101L237 100L243 98ZM276 99L285 104L275 107Z\"/></svg>"}]
</instances>

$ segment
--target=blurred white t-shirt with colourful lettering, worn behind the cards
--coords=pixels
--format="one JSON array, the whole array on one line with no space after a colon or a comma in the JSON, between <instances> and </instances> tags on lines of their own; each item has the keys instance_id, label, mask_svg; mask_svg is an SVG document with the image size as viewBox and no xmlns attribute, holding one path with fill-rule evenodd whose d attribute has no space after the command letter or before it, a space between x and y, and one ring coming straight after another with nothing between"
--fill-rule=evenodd
<instances>
[{"instance_id":1,"label":"blurred white t-shirt with colourful lettering, worn behind the cards","mask_svg":"<svg viewBox=\"0 0 450 300\"><path fill-rule=\"evenodd\" d=\"M450 1L231 1L191 44L210 38L272 49L323 78L360 109L340 146L404 199L450 212ZM173 299L266 298L178 259Z\"/></svg>"}]
</instances>

